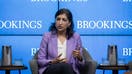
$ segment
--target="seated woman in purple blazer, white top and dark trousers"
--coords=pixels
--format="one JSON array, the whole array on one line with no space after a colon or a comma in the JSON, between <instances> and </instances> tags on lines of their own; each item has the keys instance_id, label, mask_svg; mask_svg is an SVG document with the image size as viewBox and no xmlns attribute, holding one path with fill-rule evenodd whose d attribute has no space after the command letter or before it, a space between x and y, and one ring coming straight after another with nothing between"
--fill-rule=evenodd
<instances>
[{"instance_id":1,"label":"seated woman in purple blazer, white top and dark trousers","mask_svg":"<svg viewBox=\"0 0 132 74\"><path fill-rule=\"evenodd\" d=\"M39 74L80 74L84 65L79 34L73 31L73 17L68 9L55 14L55 23L45 33L38 53Z\"/></svg>"}]
</instances>

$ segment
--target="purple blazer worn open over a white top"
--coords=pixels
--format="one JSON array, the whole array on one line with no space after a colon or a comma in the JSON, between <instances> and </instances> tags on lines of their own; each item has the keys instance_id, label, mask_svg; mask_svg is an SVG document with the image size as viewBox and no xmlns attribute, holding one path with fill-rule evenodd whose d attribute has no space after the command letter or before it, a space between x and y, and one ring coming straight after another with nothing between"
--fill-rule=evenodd
<instances>
[{"instance_id":1,"label":"purple blazer worn open over a white top","mask_svg":"<svg viewBox=\"0 0 132 74\"><path fill-rule=\"evenodd\" d=\"M80 47L80 52L82 51L82 43L80 39L80 35L74 33L73 36L67 40L67 53L66 58L68 63L72 65L73 70L76 74L79 74L79 66L84 65L84 60L80 62L76 58L73 57L72 51L77 47ZM42 41L40 44L40 49L38 52L38 65L39 65L39 74L42 74L44 70L49 65L49 61L53 60L57 57L57 35L52 34L51 32L45 33L42 37ZM81 53L82 54L82 53Z\"/></svg>"}]
</instances>

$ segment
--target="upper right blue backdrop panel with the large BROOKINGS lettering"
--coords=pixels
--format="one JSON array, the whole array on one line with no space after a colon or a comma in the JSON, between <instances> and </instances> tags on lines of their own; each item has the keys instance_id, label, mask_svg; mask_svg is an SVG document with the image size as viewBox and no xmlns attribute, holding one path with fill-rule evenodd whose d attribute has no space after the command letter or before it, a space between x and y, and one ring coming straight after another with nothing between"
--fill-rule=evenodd
<instances>
[{"instance_id":1,"label":"upper right blue backdrop panel with the large BROOKINGS lettering","mask_svg":"<svg viewBox=\"0 0 132 74\"><path fill-rule=\"evenodd\" d=\"M129 0L128 0L129 1ZM132 5L125 0L64 0L73 13L75 30L88 35L131 35Z\"/></svg>"}]
</instances>

